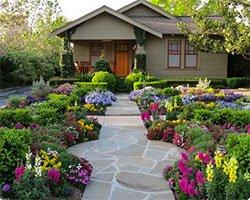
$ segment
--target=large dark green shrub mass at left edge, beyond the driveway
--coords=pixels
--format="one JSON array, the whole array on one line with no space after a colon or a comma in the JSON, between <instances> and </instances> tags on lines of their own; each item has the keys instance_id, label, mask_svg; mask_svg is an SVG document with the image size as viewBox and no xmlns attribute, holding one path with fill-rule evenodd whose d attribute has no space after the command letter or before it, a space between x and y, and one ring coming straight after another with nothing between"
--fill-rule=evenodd
<instances>
[{"instance_id":1,"label":"large dark green shrub mass at left edge, beyond the driveway","mask_svg":"<svg viewBox=\"0 0 250 200\"><path fill-rule=\"evenodd\" d=\"M40 76L47 80L58 73L57 58L57 54L9 51L0 56L1 79L8 85L30 84Z\"/></svg>"}]
</instances>

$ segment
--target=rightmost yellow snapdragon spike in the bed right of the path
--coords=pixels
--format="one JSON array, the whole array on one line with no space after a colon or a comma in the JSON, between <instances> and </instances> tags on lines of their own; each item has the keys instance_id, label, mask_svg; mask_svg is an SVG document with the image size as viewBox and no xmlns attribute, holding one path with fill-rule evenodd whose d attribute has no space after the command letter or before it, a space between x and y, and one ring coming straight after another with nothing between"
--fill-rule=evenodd
<instances>
[{"instance_id":1,"label":"rightmost yellow snapdragon spike in the bed right of the path","mask_svg":"<svg viewBox=\"0 0 250 200\"><path fill-rule=\"evenodd\" d=\"M232 157L230 160L226 160L223 165L223 171L229 177L230 183L235 183L237 179L238 161Z\"/></svg>"}]
</instances>

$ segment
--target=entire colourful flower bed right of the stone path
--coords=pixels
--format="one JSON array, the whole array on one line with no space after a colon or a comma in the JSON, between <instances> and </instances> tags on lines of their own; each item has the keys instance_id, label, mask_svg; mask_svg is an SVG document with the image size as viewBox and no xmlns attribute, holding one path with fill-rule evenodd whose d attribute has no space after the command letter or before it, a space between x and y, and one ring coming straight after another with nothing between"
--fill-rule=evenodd
<instances>
[{"instance_id":1,"label":"entire colourful flower bed right of the stone path","mask_svg":"<svg viewBox=\"0 0 250 200\"><path fill-rule=\"evenodd\" d=\"M209 85L145 87L129 98L142 112L148 139L183 148L175 165L164 169L176 199L247 199L249 97Z\"/></svg>"}]
</instances>

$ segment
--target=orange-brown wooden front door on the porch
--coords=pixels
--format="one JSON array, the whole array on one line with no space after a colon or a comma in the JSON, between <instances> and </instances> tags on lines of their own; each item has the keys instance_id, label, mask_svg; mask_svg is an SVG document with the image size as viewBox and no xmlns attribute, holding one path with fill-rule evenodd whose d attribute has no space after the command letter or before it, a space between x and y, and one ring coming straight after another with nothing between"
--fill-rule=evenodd
<instances>
[{"instance_id":1,"label":"orange-brown wooden front door on the porch","mask_svg":"<svg viewBox=\"0 0 250 200\"><path fill-rule=\"evenodd\" d=\"M118 76L127 76L130 72L128 43L116 43L115 45L115 72Z\"/></svg>"}]
</instances>

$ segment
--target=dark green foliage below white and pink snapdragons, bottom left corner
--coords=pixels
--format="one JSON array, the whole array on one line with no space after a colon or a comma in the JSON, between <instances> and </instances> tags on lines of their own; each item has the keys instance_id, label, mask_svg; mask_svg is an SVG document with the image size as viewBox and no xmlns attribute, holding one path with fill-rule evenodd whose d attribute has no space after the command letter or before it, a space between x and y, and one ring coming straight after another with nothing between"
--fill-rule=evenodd
<instances>
[{"instance_id":1,"label":"dark green foliage below white and pink snapdragons, bottom left corner","mask_svg":"<svg viewBox=\"0 0 250 200\"><path fill-rule=\"evenodd\" d=\"M15 182L16 198L20 200L49 200L50 190L46 186L46 178L36 177L33 172L25 172L19 182Z\"/></svg>"}]
</instances>

